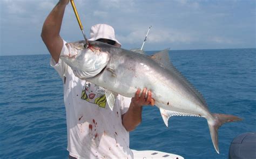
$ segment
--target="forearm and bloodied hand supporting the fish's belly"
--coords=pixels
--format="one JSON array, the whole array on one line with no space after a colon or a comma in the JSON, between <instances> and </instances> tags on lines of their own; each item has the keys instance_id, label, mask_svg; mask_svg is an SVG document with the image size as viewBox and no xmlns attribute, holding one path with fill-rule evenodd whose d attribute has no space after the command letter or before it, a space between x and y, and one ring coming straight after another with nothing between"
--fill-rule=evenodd
<instances>
[{"instance_id":1,"label":"forearm and bloodied hand supporting the fish's belly","mask_svg":"<svg viewBox=\"0 0 256 159\"><path fill-rule=\"evenodd\" d=\"M129 109L122 117L126 131L133 131L142 122L143 105L154 105L154 99L151 96L151 91L147 91L146 88L143 89L142 95L140 95L140 89L137 90L135 97L131 99Z\"/></svg>"}]
</instances>

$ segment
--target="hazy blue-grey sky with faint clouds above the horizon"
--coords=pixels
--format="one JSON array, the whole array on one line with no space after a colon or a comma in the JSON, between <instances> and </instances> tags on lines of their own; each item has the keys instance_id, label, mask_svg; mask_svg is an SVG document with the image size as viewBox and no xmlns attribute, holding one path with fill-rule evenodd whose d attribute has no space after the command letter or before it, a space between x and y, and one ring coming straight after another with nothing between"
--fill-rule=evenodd
<instances>
[{"instance_id":1,"label":"hazy blue-grey sky with faint clouds above the horizon","mask_svg":"<svg viewBox=\"0 0 256 159\"><path fill-rule=\"evenodd\" d=\"M41 31L57 0L0 0L0 55L48 54ZM145 50L255 48L254 0L75 0L86 37L90 27L114 27L122 48ZM83 40L71 4L61 37Z\"/></svg>"}]
</instances>

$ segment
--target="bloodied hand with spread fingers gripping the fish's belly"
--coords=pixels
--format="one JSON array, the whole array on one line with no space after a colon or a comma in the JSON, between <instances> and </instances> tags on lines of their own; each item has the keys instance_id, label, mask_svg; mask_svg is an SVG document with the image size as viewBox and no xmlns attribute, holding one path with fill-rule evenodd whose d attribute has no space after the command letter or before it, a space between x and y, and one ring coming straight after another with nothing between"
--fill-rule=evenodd
<instances>
[{"instance_id":1,"label":"bloodied hand with spread fingers gripping the fish's belly","mask_svg":"<svg viewBox=\"0 0 256 159\"><path fill-rule=\"evenodd\" d=\"M147 92L147 97L146 97ZM132 98L131 104L133 106L143 106L143 105L154 105L154 99L151 97L152 93L150 90L147 91L146 88L143 89L142 95L140 95L140 89L137 90L135 97Z\"/></svg>"}]
</instances>

